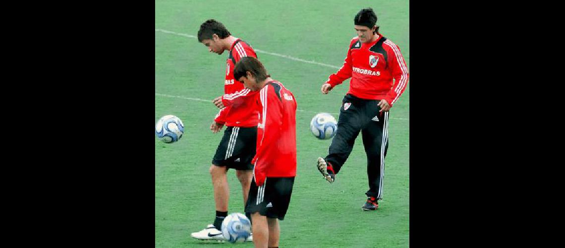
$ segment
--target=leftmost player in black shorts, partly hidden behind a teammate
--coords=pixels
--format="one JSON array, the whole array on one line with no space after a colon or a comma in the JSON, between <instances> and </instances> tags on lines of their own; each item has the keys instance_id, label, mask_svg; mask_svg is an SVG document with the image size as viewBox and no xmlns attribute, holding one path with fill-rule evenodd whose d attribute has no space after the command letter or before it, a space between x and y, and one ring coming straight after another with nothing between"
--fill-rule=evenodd
<instances>
[{"instance_id":1,"label":"leftmost player in black shorts, partly hidden behind a teammate","mask_svg":"<svg viewBox=\"0 0 565 248\"><path fill-rule=\"evenodd\" d=\"M224 94L238 94L249 92L241 82L233 77L235 64L246 56L257 58L257 54L250 45L232 34L219 21L206 20L198 30L198 41L208 47L208 51L223 54L229 51L225 69ZM220 99L218 97L215 99ZM208 225L200 232L191 233L190 236L199 240L224 240L221 234L221 223L228 215L229 186L227 171L229 168L236 169L237 179L241 183L244 203L247 202L251 177L253 177L253 164L251 159L255 156L257 145L257 116L258 111L250 108L245 101L237 102L233 106L220 109L210 130L218 133L226 125L224 136L221 138L212 165L210 175L214 185L214 202L216 215L214 224ZM250 217L249 215L247 217ZM250 236L248 241L253 241Z\"/></svg>"}]
</instances>

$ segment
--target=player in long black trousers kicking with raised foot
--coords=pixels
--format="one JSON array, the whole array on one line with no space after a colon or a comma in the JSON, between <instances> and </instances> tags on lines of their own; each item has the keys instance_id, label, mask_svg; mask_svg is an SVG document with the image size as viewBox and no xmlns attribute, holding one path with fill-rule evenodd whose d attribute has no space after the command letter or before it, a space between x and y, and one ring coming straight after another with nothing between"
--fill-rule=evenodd
<instances>
[{"instance_id":1,"label":"player in long black trousers kicking with raised foot","mask_svg":"<svg viewBox=\"0 0 565 248\"><path fill-rule=\"evenodd\" d=\"M329 154L318 158L316 164L324 178L332 183L349 157L355 138L362 132L369 181L363 210L376 210L382 199L389 110L408 82L408 69L400 48L379 33L376 22L372 8L364 8L355 15L357 36L349 43L344 66L321 86L321 92L328 94L351 77Z\"/></svg>"}]
</instances>

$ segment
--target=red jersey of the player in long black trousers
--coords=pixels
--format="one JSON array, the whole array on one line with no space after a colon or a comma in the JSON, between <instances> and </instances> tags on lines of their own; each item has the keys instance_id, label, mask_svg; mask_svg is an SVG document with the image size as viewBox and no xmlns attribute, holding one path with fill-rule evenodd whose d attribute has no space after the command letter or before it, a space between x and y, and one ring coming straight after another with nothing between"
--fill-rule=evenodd
<instances>
[{"instance_id":1,"label":"red jersey of the player in long black trousers","mask_svg":"<svg viewBox=\"0 0 565 248\"><path fill-rule=\"evenodd\" d=\"M408 68L400 48L379 36L371 43L362 43L359 37L353 37L344 65L330 75L326 83L334 87L351 77L347 94L363 99L385 99L392 107L406 89Z\"/></svg>"}]
</instances>

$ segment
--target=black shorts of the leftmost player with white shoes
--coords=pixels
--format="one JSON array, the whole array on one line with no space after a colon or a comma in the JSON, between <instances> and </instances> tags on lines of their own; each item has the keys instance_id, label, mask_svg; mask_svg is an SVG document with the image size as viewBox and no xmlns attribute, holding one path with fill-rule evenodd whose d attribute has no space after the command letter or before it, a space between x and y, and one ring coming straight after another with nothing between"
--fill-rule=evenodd
<instances>
[{"instance_id":1,"label":"black shorts of the leftmost player with white shoes","mask_svg":"<svg viewBox=\"0 0 565 248\"><path fill-rule=\"evenodd\" d=\"M257 127L227 127L212 164L238 170L253 169L251 159L257 149Z\"/></svg>"}]
</instances>

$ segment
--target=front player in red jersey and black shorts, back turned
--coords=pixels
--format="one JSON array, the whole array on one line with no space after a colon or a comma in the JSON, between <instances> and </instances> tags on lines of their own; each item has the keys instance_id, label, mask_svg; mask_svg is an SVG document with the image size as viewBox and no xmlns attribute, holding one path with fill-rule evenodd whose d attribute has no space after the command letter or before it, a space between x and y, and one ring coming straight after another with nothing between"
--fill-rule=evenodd
<instances>
[{"instance_id":1,"label":"front player in red jersey and black shorts, back turned","mask_svg":"<svg viewBox=\"0 0 565 248\"><path fill-rule=\"evenodd\" d=\"M253 98L260 114L257 154L245 205L253 223L253 243L255 247L279 247L279 220L284 220L288 210L296 176L296 101L255 58L242 58L233 74L247 89L259 92Z\"/></svg>"}]
</instances>

